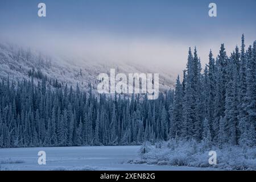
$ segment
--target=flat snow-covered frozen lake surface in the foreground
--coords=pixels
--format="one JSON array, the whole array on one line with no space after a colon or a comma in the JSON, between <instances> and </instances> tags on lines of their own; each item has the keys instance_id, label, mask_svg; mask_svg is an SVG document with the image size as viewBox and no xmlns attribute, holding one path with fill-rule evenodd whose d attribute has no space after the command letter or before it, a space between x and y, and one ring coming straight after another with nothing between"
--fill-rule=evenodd
<instances>
[{"instance_id":1,"label":"flat snow-covered frozen lake surface in the foreground","mask_svg":"<svg viewBox=\"0 0 256 182\"><path fill-rule=\"evenodd\" d=\"M1 170L210 170L211 168L127 164L140 146L0 148ZM38 151L46 151L46 165Z\"/></svg>"}]
</instances>

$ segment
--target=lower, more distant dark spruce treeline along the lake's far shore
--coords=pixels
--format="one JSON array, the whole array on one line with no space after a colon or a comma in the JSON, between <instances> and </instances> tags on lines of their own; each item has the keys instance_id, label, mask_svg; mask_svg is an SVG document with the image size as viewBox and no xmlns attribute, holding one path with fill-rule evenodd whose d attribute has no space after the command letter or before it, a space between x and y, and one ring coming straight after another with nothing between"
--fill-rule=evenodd
<instances>
[{"instance_id":1,"label":"lower, more distant dark spruce treeline along the lake's far shore","mask_svg":"<svg viewBox=\"0 0 256 182\"><path fill-rule=\"evenodd\" d=\"M141 144L167 139L174 92L156 101L52 89L46 82L0 84L0 147Z\"/></svg>"}]
</instances>

